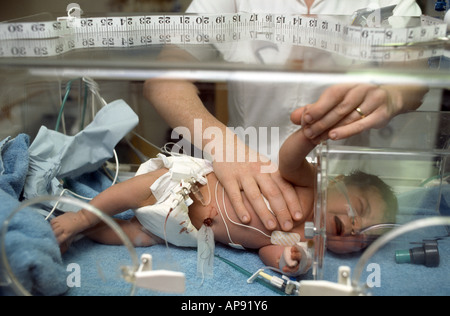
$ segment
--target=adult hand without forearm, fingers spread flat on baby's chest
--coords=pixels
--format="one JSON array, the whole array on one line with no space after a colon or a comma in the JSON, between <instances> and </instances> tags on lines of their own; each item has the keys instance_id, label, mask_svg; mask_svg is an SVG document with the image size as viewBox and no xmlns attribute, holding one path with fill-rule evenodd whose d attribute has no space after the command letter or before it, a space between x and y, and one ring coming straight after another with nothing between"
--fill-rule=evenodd
<instances>
[{"instance_id":1,"label":"adult hand without forearm, fingers spread flat on baby's chest","mask_svg":"<svg viewBox=\"0 0 450 316\"><path fill-rule=\"evenodd\" d=\"M245 145L240 143L240 146ZM293 221L303 218L294 187L281 177L278 168L274 168L267 158L247 146L245 149L245 159L237 160L245 162L216 160L213 164L215 174L224 186L238 218L244 224L251 221L251 215L244 205L243 192L268 230L277 229L279 224L284 231L290 231L294 226ZM263 196L269 201L275 216L269 211Z\"/></svg>"}]
</instances>

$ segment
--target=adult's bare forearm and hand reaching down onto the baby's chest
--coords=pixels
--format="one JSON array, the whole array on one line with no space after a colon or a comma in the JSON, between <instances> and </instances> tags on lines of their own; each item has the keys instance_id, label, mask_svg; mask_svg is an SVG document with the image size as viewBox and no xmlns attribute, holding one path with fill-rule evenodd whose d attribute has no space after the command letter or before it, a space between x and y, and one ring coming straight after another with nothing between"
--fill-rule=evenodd
<instances>
[{"instance_id":1,"label":"adult's bare forearm and hand reaching down onto the baby's chest","mask_svg":"<svg viewBox=\"0 0 450 316\"><path fill-rule=\"evenodd\" d=\"M293 227L293 221L302 218L299 215L300 202L292 185L281 178L278 168L265 162L268 159L251 151L239 141L236 134L209 113L194 84L185 81L148 80L145 96L174 128L184 126L194 135L199 128L195 125L196 122L202 123L202 146L197 147L203 147L205 154L214 161L216 176L243 223L249 224L251 215L244 205L241 191L269 230L280 226L289 231ZM178 111L180 108L184 111ZM245 155L241 156L241 153ZM262 194L269 201L275 216L267 208Z\"/></svg>"}]
</instances>

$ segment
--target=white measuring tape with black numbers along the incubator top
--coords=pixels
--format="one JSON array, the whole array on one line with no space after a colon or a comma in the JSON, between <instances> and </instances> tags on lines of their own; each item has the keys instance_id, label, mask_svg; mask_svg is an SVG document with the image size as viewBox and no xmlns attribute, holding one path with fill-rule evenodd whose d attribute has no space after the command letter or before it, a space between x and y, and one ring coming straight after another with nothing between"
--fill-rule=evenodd
<instances>
[{"instance_id":1,"label":"white measuring tape with black numbers along the incubator top","mask_svg":"<svg viewBox=\"0 0 450 316\"><path fill-rule=\"evenodd\" d=\"M0 24L0 57L51 57L86 48L225 44L248 40L314 47L347 58L409 61L443 55L443 48L387 49L386 44L445 37L447 25L422 16L405 28L351 26L347 17L262 13L61 18ZM384 47L384 48L383 48ZM382 48L382 49L381 49Z\"/></svg>"}]
</instances>

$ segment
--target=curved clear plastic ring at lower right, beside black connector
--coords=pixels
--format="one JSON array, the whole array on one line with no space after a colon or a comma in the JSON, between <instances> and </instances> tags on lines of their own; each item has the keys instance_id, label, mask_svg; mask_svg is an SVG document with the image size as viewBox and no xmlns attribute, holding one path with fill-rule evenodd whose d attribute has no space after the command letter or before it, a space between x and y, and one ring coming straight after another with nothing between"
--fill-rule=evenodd
<instances>
[{"instance_id":1,"label":"curved clear plastic ring at lower right, beside black connector","mask_svg":"<svg viewBox=\"0 0 450 316\"><path fill-rule=\"evenodd\" d=\"M369 262L370 258L382 247L384 247L388 242L394 240L395 238L400 237L403 234L410 233L412 231L434 227L434 226L450 226L450 217L430 217L426 219L421 219L418 221L414 221L405 225L396 228L389 233L383 235L379 239L377 239L367 250L363 253L361 258L359 259L355 271L353 273L352 285L355 288L360 288L359 281L361 279L361 275L364 271L365 266ZM361 289L361 288L360 288Z\"/></svg>"}]
</instances>

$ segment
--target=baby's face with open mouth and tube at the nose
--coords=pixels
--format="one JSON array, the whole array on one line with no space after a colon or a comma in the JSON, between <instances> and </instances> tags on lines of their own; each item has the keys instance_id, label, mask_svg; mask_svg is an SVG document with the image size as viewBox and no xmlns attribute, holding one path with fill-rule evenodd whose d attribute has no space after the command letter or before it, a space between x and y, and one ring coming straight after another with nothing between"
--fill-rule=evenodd
<instances>
[{"instance_id":1,"label":"baby's face with open mouth and tube at the nose","mask_svg":"<svg viewBox=\"0 0 450 316\"><path fill-rule=\"evenodd\" d=\"M386 212L386 203L378 189L345 188L348 198L335 186L328 189L327 198L327 248L340 254L364 249L367 239L358 232L382 223Z\"/></svg>"}]
</instances>

